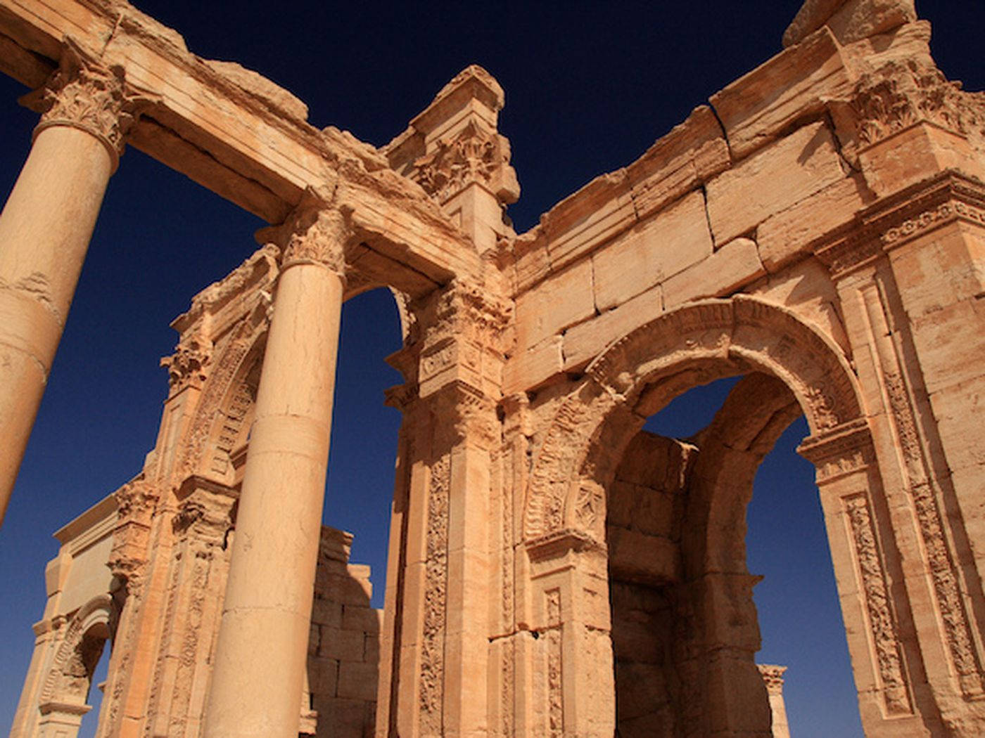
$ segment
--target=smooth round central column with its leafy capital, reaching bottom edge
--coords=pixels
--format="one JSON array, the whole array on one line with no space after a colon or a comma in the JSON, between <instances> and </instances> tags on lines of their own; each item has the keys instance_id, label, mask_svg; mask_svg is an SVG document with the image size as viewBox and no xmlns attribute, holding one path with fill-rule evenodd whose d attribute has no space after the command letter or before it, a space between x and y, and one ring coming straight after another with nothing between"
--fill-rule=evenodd
<instances>
[{"instance_id":1,"label":"smooth round central column with its leafy capital, reaching bottom edge","mask_svg":"<svg viewBox=\"0 0 985 738\"><path fill-rule=\"evenodd\" d=\"M296 738L345 284L344 217L302 206L263 357L205 717L209 738Z\"/></svg>"}]
</instances>

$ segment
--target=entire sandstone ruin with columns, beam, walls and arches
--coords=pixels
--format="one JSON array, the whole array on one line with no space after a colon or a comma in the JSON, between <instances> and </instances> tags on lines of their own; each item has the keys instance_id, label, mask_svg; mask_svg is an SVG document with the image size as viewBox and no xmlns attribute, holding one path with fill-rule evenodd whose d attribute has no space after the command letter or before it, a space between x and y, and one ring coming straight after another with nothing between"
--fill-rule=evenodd
<instances>
[{"instance_id":1,"label":"entire sandstone ruin with columns, beam, walls and arches","mask_svg":"<svg viewBox=\"0 0 985 738\"><path fill-rule=\"evenodd\" d=\"M124 144L275 224L174 322L140 473L58 533L13 736L73 735L106 641L100 738L782 735L745 510L802 413L867 735L985 734L985 95L910 0L808 0L524 234L479 67L376 150L125 2L0 8L41 115L0 215L4 499ZM320 525L341 305L376 286L378 642ZM641 432L734 375L688 442Z\"/></svg>"}]
</instances>

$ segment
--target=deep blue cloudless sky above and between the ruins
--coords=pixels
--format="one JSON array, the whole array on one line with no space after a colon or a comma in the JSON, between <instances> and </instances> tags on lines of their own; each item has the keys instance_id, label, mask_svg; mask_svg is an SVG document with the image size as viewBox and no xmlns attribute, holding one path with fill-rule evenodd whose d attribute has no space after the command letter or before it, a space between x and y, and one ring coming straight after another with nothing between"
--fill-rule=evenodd
<instances>
[{"instance_id":1,"label":"deep blue cloudless sky above and between the ruins","mask_svg":"<svg viewBox=\"0 0 985 738\"><path fill-rule=\"evenodd\" d=\"M294 92L318 126L375 145L400 133L470 63L506 91L500 131L523 193L517 229L593 176L618 168L684 120L708 95L780 49L800 0L690 3L187 3L137 5L181 31L203 57L234 60ZM938 63L969 90L985 88L985 4L918 0L935 26ZM0 79L0 194L27 156L35 115L26 92ZM167 324L190 297L255 247L262 223L144 154L110 182L28 454L0 531L0 730L10 724L44 604L50 533L139 471L154 446L171 352ZM385 569L396 411L382 390L399 381L382 358L399 347L392 301L347 304L326 523L357 534L354 560ZM659 419L687 436L727 388L677 400ZM798 421L763 463L750 508L750 569L763 661L790 665L796 738L860 735L813 471L793 449ZM375 598L376 604L381 603Z\"/></svg>"}]
</instances>

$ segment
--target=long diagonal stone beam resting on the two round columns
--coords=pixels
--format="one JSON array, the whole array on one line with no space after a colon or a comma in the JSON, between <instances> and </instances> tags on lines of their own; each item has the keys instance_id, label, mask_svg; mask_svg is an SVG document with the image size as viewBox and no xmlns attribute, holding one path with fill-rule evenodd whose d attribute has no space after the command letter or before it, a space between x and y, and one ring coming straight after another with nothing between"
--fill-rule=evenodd
<instances>
[{"instance_id":1,"label":"long diagonal stone beam resting on the two round columns","mask_svg":"<svg viewBox=\"0 0 985 738\"><path fill-rule=\"evenodd\" d=\"M255 72L195 56L119 0L0 0L0 71L25 85L43 84L66 36L155 98L128 138L135 148L271 223L306 187L333 188L364 246L397 266L398 289L478 272L475 249L424 190L351 134L310 125L300 100Z\"/></svg>"}]
</instances>

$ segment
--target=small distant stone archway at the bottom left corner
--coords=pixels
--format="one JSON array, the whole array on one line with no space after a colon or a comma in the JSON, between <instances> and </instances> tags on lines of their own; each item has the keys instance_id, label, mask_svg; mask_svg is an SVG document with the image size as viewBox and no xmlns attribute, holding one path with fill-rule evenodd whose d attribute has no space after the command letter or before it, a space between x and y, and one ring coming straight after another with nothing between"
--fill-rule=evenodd
<instances>
[{"instance_id":1,"label":"small distant stone archway at the bottom left corner","mask_svg":"<svg viewBox=\"0 0 985 738\"><path fill-rule=\"evenodd\" d=\"M89 600L72 617L44 679L37 707L38 735L73 738L88 705L93 674L110 640L114 620L109 594Z\"/></svg>"}]
</instances>

